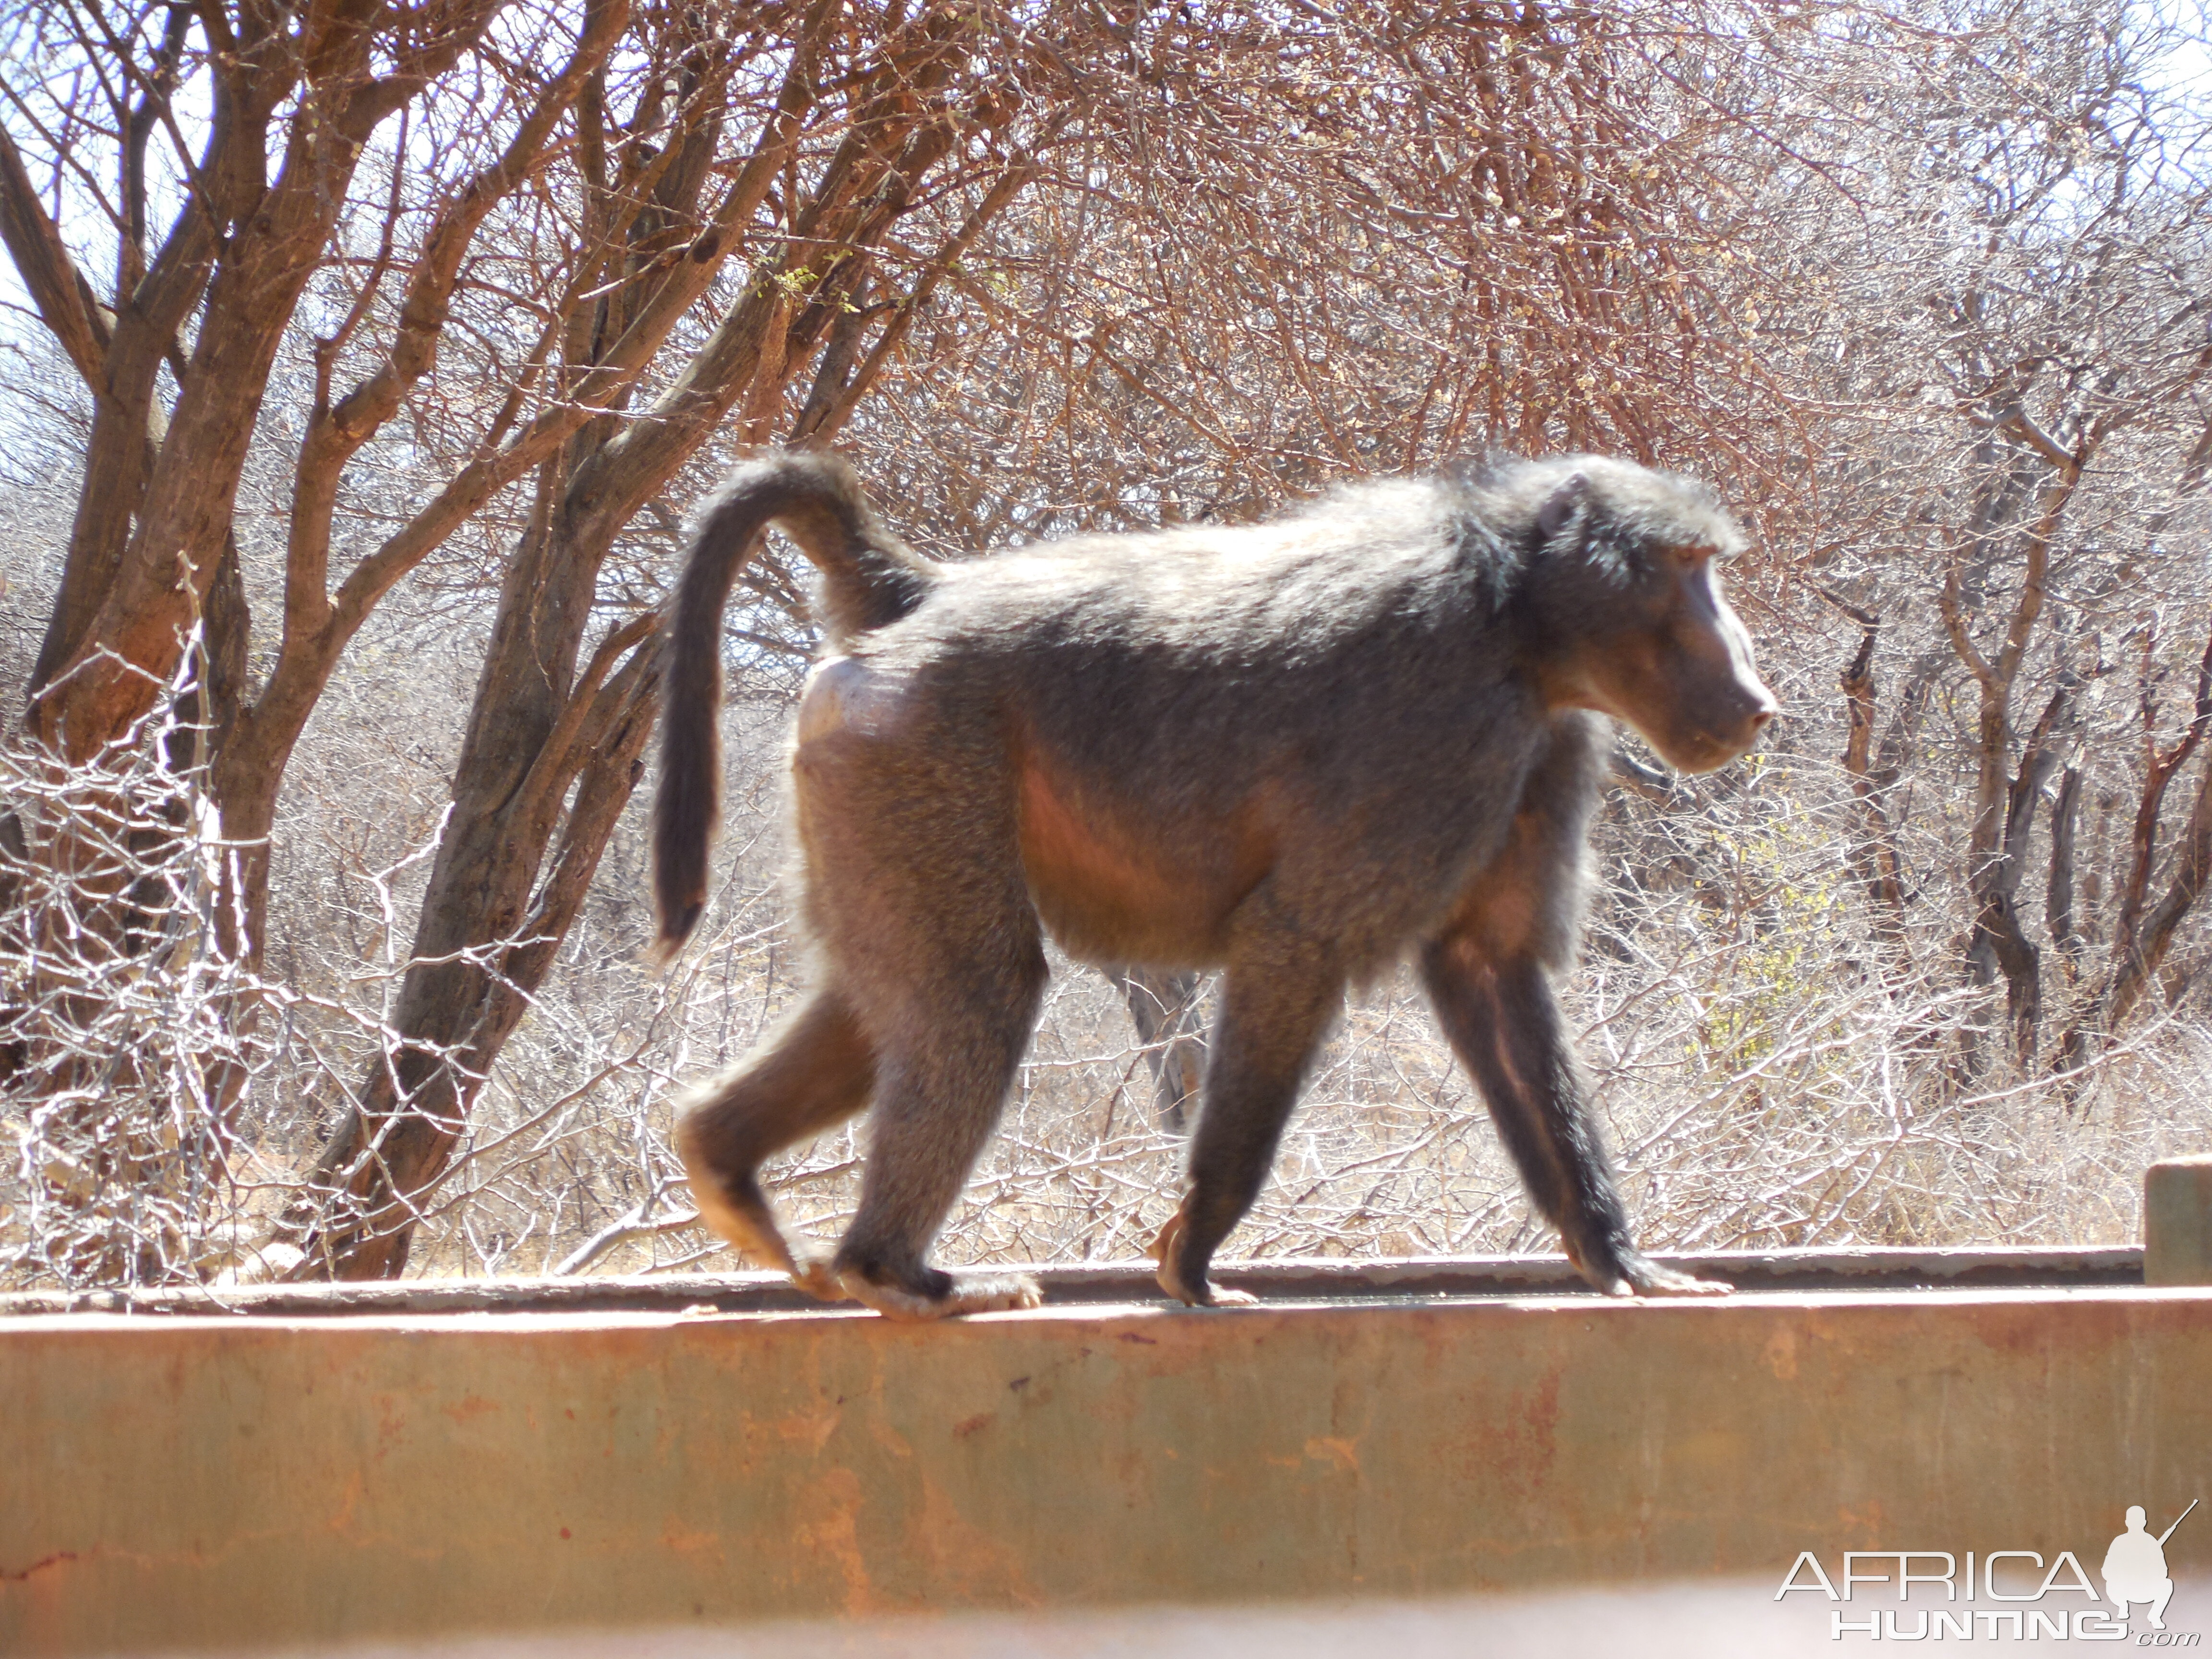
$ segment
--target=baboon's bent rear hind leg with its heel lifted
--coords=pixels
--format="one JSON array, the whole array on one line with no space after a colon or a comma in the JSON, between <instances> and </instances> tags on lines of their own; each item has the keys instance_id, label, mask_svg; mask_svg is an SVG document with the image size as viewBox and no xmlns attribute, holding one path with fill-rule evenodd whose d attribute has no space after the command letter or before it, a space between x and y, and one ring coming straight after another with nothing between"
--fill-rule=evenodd
<instances>
[{"instance_id":1,"label":"baboon's bent rear hind leg with its heel lifted","mask_svg":"<svg viewBox=\"0 0 2212 1659\"><path fill-rule=\"evenodd\" d=\"M827 1259L794 1252L761 1192L761 1164L867 1104L876 1053L834 989L814 991L765 1046L697 1091L677 1119L677 1152L708 1228L801 1290L841 1301Z\"/></svg>"}]
</instances>

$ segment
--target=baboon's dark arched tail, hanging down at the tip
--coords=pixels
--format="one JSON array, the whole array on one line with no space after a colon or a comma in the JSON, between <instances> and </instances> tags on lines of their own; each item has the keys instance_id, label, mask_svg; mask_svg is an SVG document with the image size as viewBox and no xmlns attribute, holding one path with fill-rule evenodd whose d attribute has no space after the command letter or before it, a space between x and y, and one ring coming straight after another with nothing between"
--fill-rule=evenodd
<instances>
[{"instance_id":1,"label":"baboon's dark arched tail, hanging down at the tip","mask_svg":"<svg viewBox=\"0 0 2212 1659\"><path fill-rule=\"evenodd\" d=\"M692 533L668 624L661 785L653 801L653 956L672 958L706 909L708 841L721 812L721 615L761 531L781 524L823 573L832 644L907 615L936 582L876 518L852 467L785 451L741 465Z\"/></svg>"}]
</instances>

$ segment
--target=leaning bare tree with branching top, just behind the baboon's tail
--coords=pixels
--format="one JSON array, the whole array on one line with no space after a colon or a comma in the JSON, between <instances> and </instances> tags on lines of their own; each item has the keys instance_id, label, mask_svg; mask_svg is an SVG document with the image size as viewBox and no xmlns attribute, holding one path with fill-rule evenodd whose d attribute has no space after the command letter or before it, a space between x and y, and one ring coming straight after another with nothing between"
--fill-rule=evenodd
<instances>
[{"instance_id":1,"label":"leaning bare tree with branching top, just behind the baboon's tail","mask_svg":"<svg viewBox=\"0 0 2212 1659\"><path fill-rule=\"evenodd\" d=\"M732 411L754 440L785 418L803 440L836 431L927 290L1029 179L1029 159L995 142L1020 106L1009 64L984 51L993 42L975 33L978 13L951 9L922 11L852 49L836 75L852 88L836 111L841 135L807 164L803 139L818 126L799 119L801 88L830 77L816 53L832 13L814 15L816 33L792 53L779 117L737 168L737 199L699 199L712 131L666 135L670 148L695 144L699 166L679 175L684 188L655 197L648 223L664 246L714 246L726 226L750 223L772 181L783 184L774 228L748 237L752 270L739 299L650 407L582 427L540 462L422 900L416 967L389 1051L323 1155L325 1210L303 1228L310 1256L332 1272L380 1276L405 1265L414 1194L445 1168L641 774L657 712L655 615L615 619L577 668L615 538ZM995 62L984 66L987 58ZM712 108L697 88L690 102ZM960 177L936 177L947 166ZM586 186L604 188L608 201L637 195L626 181ZM953 210L918 219L927 192L945 192ZM909 241L885 270L894 230ZM557 314L566 325L557 361L568 376L593 374L597 354L637 327L622 323L626 310L666 303L655 261L633 259L633 270L630 281L571 285L573 310ZM841 330L845 319L872 327ZM785 411L785 394L825 343L832 349Z\"/></svg>"}]
</instances>

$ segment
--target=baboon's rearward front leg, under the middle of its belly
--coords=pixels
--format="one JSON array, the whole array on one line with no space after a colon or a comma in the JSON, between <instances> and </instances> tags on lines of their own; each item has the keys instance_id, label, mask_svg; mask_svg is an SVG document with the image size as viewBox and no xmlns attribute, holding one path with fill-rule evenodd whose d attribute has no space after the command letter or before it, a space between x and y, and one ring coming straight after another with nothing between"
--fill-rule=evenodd
<instances>
[{"instance_id":1,"label":"baboon's rearward front leg, under the middle of its belly","mask_svg":"<svg viewBox=\"0 0 2212 1659\"><path fill-rule=\"evenodd\" d=\"M1208 1279L1214 1250L1259 1199L1314 1046L1343 1002L1343 978L1323 969L1230 967L1206 1064L1190 1190L1152 1241L1159 1287L1192 1307L1254 1301Z\"/></svg>"}]
</instances>

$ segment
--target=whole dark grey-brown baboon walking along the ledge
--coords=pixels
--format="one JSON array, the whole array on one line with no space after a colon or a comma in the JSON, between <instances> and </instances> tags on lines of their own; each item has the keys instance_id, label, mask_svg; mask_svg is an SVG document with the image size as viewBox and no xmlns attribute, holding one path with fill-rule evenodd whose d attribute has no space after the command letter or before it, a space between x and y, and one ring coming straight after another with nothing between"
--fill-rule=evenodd
<instances>
[{"instance_id":1,"label":"whole dark grey-brown baboon walking along the ledge","mask_svg":"<svg viewBox=\"0 0 2212 1659\"><path fill-rule=\"evenodd\" d=\"M708 502L670 622L657 949L708 891L721 615L768 522L823 573L792 807L805 1002L684 1108L708 1223L821 1296L931 1318L1033 1307L929 1248L1029 1044L1051 931L1077 960L1223 969L1181 1208L1152 1245L1192 1305L1259 1197L1343 1004L1418 962L1528 1194L1597 1290L1721 1292L1644 1256L1553 1000L1584 832L1628 721L1674 768L1774 717L1686 478L1601 456L1371 482L1270 524L1084 535L938 564L827 453ZM761 1161L874 1104L832 1259L790 1248Z\"/></svg>"}]
</instances>

